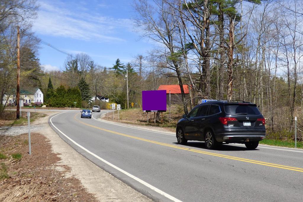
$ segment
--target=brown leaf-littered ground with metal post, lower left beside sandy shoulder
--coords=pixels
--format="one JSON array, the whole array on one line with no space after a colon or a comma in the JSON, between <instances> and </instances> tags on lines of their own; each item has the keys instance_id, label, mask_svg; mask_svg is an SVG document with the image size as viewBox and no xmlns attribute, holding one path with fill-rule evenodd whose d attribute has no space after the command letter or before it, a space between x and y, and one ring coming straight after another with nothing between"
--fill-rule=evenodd
<instances>
[{"instance_id":1,"label":"brown leaf-littered ground with metal post, lower left beside sandy shoulder","mask_svg":"<svg viewBox=\"0 0 303 202\"><path fill-rule=\"evenodd\" d=\"M67 166L39 133L0 136L0 201L96 201L75 177L65 177Z\"/></svg>"}]
</instances>

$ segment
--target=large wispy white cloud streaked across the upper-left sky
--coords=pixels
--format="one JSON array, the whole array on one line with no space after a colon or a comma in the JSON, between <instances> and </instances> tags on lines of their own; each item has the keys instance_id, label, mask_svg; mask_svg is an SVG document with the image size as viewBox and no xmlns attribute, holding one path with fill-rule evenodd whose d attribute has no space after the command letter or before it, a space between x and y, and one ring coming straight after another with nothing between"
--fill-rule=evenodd
<instances>
[{"instance_id":1,"label":"large wispy white cloud streaked across the upper-left sky","mask_svg":"<svg viewBox=\"0 0 303 202\"><path fill-rule=\"evenodd\" d=\"M76 9L67 9L67 5L63 2L52 5L41 2L40 5L38 19L35 20L33 29L45 35L85 41L121 42L125 39L114 35L118 35L121 29L130 31L132 27L130 19L115 19L89 12L76 12Z\"/></svg>"}]
</instances>

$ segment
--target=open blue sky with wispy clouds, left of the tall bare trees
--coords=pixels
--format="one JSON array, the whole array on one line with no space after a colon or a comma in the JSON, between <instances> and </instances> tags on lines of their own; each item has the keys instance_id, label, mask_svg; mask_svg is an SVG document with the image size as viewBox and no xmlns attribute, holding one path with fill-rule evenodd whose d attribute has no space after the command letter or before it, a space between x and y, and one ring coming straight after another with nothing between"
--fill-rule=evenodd
<instances>
[{"instance_id":1,"label":"open blue sky with wispy clouds, left of the tall bare trees","mask_svg":"<svg viewBox=\"0 0 303 202\"><path fill-rule=\"evenodd\" d=\"M86 53L99 65L112 67L119 58L130 62L153 45L134 31L132 0L40 0L33 31L43 41L70 54ZM64 69L64 55L41 45L45 70Z\"/></svg>"}]
</instances>

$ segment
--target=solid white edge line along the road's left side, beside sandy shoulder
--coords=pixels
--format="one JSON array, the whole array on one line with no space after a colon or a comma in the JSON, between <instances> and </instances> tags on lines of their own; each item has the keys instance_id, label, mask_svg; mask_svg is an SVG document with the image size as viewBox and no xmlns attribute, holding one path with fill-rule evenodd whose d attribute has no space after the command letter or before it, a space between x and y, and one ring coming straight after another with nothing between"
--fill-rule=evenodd
<instances>
[{"instance_id":1,"label":"solid white edge line along the road's left side, beside sandy shoulder","mask_svg":"<svg viewBox=\"0 0 303 202\"><path fill-rule=\"evenodd\" d=\"M60 114L63 114L63 113L65 113L65 112L62 112L62 113L60 113ZM55 116L57 116L57 115L59 115L59 114L56 114ZM52 118L54 118L55 116L53 116ZM60 131L60 130L53 124L52 118L50 118L50 120L49 120L49 121L51 122L51 124L52 124L52 125L53 125L61 134L62 134L62 135L64 135L67 139L69 139L70 141L72 141L72 143L74 143L75 145L77 145L78 147L80 147L81 149L83 149L84 151L86 151L87 153L89 153L89 154L91 154L92 156L96 157L96 158L99 159L100 161L103 161L105 164L108 164L109 166L115 168L116 170L122 172L123 174L127 175L128 177L131 177L132 179L134 179L134 180L138 181L139 183L145 185L146 187L148 187L148 188L154 190L154 191L157 192L158 194L161 194L162 196L165 196L165 197L167 197L168 199L170 199L170 200L172 200L172 201L181 202L181 200L178 200L178 199L176 199L175 197L173 197L173 196L171 196L171 195L169 195L169 194L166 194L164 191L159 190L158 188L152 186L151 184L148 184L147 182L145 182L145 181L139 179L138 177L135 177L134 175L132 175L132 174L130 174L130 173L128 173L128 172L122 170L121 168L119 168L119 167L117 167L117 166L115 166L114 164L109 163L108 161L106 161L106 160L104 160L103 158L101 158L101 157L97 156L96 154L92 153L91 151L89 151L89 150L86 149L85 147L82 147L80 144L78 144L77 142L73 141L70 137L68 137L68 136L65 135L62 131Z\"/></svg>"}]
</instances>

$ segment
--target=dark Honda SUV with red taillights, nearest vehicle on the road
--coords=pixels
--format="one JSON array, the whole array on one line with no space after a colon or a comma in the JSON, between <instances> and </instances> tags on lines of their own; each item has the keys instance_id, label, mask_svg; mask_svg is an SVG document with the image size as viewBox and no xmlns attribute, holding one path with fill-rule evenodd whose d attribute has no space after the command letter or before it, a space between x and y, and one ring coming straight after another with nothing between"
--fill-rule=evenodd
<instances>
[{"instance_id":1,"label":"dark Honda SUV with red taillights, nearest vehicle on the road","mask_svg":"<svg viewBox=\"0 0 303 202\"><path fill-rule=\"evenodd\" d=\"M179 144L205 141L207 149L222 143L241 143L255 149L265 138L265 119L257 105L250 102L208 101L183 115L176 136Z\"/></svg>"}]
</instances>

